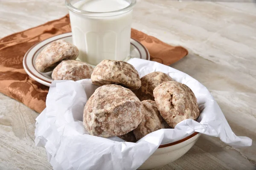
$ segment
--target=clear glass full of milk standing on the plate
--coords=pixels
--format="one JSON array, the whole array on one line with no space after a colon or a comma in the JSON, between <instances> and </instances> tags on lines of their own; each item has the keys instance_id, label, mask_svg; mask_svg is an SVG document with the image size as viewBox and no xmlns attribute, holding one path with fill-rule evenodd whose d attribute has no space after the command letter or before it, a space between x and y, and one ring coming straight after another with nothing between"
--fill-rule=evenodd
<instances>
[{"instance_id":1,"label":"clear glass full of milk standing on the plate","mask_svg":"<svg viewBox=\"0 0 256 170\"><path fill-rule=\"evenodd\" d=\"M97 65L130 55L132 9L136 0L66 0L79 59Z\"/></svg>"}]
</instances>

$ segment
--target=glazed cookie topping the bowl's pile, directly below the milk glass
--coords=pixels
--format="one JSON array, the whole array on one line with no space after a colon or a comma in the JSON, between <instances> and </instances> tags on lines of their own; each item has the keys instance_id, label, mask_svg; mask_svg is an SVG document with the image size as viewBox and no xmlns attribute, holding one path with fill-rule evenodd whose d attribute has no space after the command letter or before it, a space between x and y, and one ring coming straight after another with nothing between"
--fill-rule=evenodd
<instances>
[{"instance_id":1,"label":"glazed cookie topping the bowl's pile, directly below the milk glass","mask_svg":"<svg viewBox=\"0 0 256 170\"><path fill-rule=\"evenodd\" d=\"M116 60L103 60L93 70L91 80L94 85L116 84L126 88L140 88L140 76L133 65Z\"/></svg>"}]
</instances>

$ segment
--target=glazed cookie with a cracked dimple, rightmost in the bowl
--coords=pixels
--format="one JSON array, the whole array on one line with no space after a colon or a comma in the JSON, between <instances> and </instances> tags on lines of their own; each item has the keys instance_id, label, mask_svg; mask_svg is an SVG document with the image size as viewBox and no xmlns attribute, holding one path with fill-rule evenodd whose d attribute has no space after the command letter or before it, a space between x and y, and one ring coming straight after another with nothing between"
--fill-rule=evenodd
<instances>
[{"instance_id":1,"label":"glazed cookie with a cracked dimple, rightmost in the bowl","mask_svg":"<svg viewBox=\"0 0 256 170\"><path fill-rule=\"evenodd\" d=\"M154 98L161 116L173 128L185 119L196 120L200 114L195 94L182 83L163 82L154 89Z\"/></svg>"}]
</instances>

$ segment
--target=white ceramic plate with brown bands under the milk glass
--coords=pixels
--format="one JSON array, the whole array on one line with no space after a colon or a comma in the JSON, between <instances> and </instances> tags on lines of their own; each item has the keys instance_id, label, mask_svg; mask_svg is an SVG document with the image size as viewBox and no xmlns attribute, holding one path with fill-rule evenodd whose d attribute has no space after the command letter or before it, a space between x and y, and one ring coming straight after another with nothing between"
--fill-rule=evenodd
<instances>
[{"instance_id":1,"label":"white ceramic plate with brown bands under the milk glass","mask_svg":"<svg viewBox=\"0 0 256 170\"><path fill-rule=\"evenodd\" d=\"M51 42L56 40L66 40L67 42L72 43L72 34L71 32L60 34L51 38L48 38L44 41L41 41L34 46L32 46L29 51L26 52L24 58L23 58L23 67L26 71L26 73L35 79L35 81L50 86L52 83L52 71L47 73L42 73L40 71L37 71L35 69L35 59L38 56L38 54ZM131 58L141 58L141 59L150 59L148 50L143 46L140 42L137 40L131 39L131 52L130 52Z\"/></svg>"}]
</instances>

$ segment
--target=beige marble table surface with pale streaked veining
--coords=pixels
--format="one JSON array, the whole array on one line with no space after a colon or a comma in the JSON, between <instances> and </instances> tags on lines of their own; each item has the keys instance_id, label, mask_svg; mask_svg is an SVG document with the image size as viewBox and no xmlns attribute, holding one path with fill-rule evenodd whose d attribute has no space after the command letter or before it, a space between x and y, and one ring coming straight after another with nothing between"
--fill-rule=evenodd
<instances>
[{"instance_id":1,"label":"beige marble table surface with pale streaked veining","mask_svg":"<svg viewBox=\"0 0 256 170\"><path fill-rule=\"evenodd\" d=\"M216 1L216 0L215 0ZM233 148L202 135L189 152L157 170L256 169L256 4L247 0L137 0L132 27L189 55L171 65L204 84L238 136ZM0 38L67 14L64 0L0 0ZM0 94L0 170L52 169L35 147L38 113Z\"/></svg>"}]
</instances>

